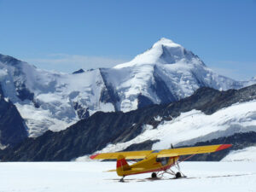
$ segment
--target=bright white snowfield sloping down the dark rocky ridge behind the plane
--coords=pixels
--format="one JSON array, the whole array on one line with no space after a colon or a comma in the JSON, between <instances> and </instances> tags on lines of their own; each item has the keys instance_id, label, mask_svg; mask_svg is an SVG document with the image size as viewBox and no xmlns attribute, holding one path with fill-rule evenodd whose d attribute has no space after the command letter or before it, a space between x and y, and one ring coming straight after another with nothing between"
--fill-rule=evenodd
<instances>
[{"instance_id":1,"label":"bright white snowfield sloping down the dark rocky ridge behind the plane","mask_svg":"<svg viewBox=\"0 0 256 192\"><path fill-rule=\"evenodd\" d=\"M131 144L147 140L159 139L160 142L154 143L152 149L165 149L170 148L171 144L175 147L193 145L247 131L256 131L256 101L236 103L211 115L197 110L181 113L176 119L161 122L156 129L152 125L144 125L143 132L134 139L125 143L108 144L96 154L121 151ZM230 155L228 160L232 157ZM76 160L88 160L88 156Z\"/></svg>"}]
</instances>

